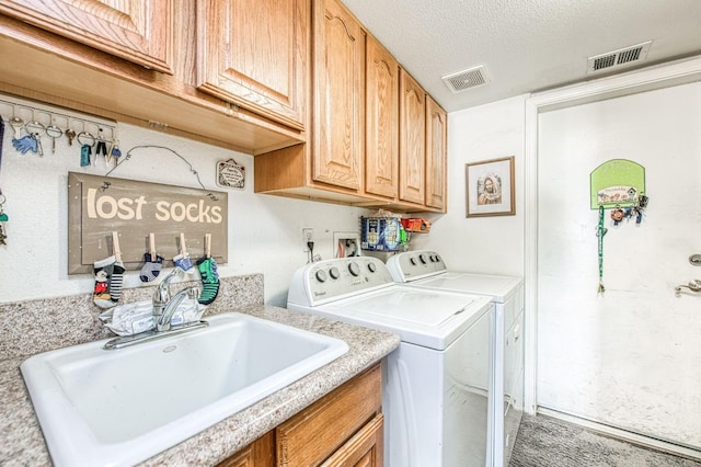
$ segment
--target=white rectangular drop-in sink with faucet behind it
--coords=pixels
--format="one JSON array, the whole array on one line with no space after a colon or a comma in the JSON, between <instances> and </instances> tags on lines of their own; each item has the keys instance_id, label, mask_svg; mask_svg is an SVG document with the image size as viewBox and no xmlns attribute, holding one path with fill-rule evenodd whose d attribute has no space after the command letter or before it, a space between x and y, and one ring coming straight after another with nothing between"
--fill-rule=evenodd
<instances>
[{"instance_id":1,"label":"white rectangular drop-in sink with faucet behind it","mask_svg":"<svg viewBox=\"0 0 701 467\"><path fill-rule=\"evenodd\" d=\"M134 465L348 351L337 339L237 312L119 350L91 342L21 365L54 464Z\"/></svg>"}]
</instances>

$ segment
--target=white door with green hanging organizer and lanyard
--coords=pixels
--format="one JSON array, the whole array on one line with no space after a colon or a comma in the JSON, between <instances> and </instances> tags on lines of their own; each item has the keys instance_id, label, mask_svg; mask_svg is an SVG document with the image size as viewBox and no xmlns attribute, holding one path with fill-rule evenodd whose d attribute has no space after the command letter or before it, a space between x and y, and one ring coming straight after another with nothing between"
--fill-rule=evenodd
<instances>
[{"instance_id":1,"label":"white door with green hanging organizer and lanyard","mask_svg":"<svg viewBox=\"0 0 701 467\"><path fill-rule=\"evenodd\" d=\"M614 226L589 173L645 169L648 207ZM538 137L538 405L701 449L701 83L542 113Z\"/></svg>"}]
</instances>

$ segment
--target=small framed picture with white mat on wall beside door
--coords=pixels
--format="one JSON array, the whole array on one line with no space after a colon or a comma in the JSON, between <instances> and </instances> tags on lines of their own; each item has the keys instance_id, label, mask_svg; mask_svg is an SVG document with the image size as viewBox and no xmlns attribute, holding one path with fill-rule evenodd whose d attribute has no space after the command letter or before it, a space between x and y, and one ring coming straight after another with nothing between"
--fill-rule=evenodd
<instances>
[{"instance_id":1,"label":"small framed picture with white mat on wall beside door","mask_svg":"<svg viewBox=\"0 0 701 467\"><path fill-rule=\"evenodd\" d=\"M466 164L467 217L512 216L514 156Z\"/></svg>"}]
</instances>

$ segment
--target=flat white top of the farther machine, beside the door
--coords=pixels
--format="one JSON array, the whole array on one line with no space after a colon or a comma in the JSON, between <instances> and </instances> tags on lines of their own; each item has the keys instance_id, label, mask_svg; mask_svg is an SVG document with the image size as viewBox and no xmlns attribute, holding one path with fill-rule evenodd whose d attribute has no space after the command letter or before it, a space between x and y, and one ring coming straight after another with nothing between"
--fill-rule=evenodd
<instances>
[{"instance_id":1,"label":"flat white top of the farther machine, beside the door","mask_svg":"<svg viewBox=\"0 0 701 467\"><path fill-rule=\"evenodd\" d=\"M496 303L504 303L522 284L520 277L506 275L445 272L433 277L412 282L412 285L440 291L491 295Z\"/></svg>"}]
</instances>

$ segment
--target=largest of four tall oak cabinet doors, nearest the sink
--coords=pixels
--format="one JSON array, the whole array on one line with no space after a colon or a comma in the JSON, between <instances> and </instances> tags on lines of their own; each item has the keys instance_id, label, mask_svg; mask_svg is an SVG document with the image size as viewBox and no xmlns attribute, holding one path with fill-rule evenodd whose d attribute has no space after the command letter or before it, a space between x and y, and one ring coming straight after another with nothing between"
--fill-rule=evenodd
<instances>
[{"instance_id":1,"label":"largest of four tall oak cabinet doors, nearest the sink","mask_svg":"<svg viewBox=\"0 0 701 467\"><path fill-rule=\"evenodd\" d=\"M314 182L361 189L365 36L338 1L314 2Z\"/></svg>"}]
</instances>

